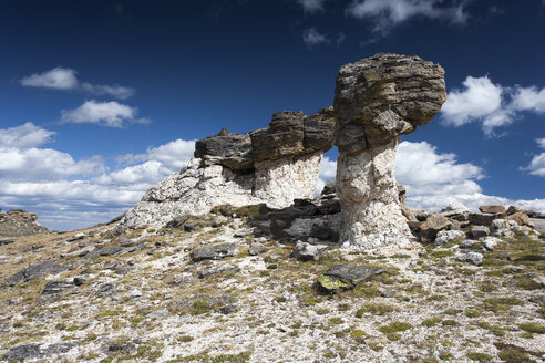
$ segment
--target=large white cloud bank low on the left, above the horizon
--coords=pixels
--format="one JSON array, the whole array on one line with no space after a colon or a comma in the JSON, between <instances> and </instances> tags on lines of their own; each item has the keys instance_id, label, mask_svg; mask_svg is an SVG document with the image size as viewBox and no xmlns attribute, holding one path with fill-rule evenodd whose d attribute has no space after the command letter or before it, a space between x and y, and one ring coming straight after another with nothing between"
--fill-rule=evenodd
<instances>
[{"instance_id":1,"label":"large white cloud bank low on the left, above the horizon","mask_svg":"<svg viewBox=\"0 0 545 363\"><path fill-rule=\"evenodd\" d=\"M39 147L53 142L53 135L32 123L0 129L0 206L38 212L40 222L53 229L89 227L126 211L151 184L178 172L195 145L176 139L148 147L121 156L123 163L109 169L100 156L75 160Z\"/></svg>"}]
</instances>

